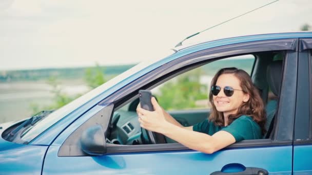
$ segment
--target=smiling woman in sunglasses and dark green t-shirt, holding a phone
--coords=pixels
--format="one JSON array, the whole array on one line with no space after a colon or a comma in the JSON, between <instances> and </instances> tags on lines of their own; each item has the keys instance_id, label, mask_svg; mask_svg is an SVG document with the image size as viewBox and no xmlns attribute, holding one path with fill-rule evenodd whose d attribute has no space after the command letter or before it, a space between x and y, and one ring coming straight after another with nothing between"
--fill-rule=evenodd
<instances>
[{"instance_id":1,"label":"smiling woman in sunglasses and dark green t-shirt, holding a phone","mask_svg":"<svg viewBox=\"0 0 312 175\"><path fill-rule=\"evenodd\" d=\"M137 108L141 127L207 154L241 140L261 139L266 132L262 99L250 76L237 68L221 69L212 78L210 116L196 125L183 127L151 101L155 111Z\"/></svg>"}]
</instances>

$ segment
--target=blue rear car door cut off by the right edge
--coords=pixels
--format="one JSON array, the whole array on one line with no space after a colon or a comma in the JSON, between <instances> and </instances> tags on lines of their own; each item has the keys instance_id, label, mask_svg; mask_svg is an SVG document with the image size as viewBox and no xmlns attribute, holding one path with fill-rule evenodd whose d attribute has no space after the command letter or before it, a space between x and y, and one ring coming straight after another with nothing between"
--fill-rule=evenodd
<instances>
[{"instance_id":1,"label":"blue rear car door cut off by the right edge","mask_svg":"<svg viewBox=\"0 0 312 175\"><path fill-rule=\"evenodd\" d=\"M300 39L298 61L298 92L294 136L294 174L312 173L312 38Z\"/></svg>"}]
</instances>

